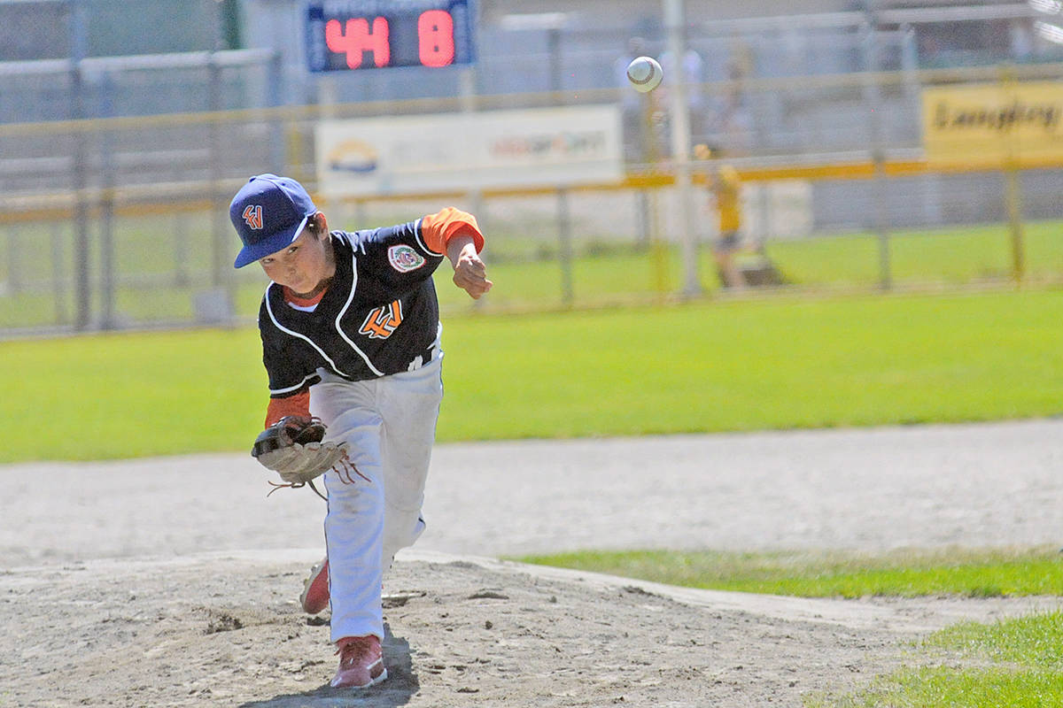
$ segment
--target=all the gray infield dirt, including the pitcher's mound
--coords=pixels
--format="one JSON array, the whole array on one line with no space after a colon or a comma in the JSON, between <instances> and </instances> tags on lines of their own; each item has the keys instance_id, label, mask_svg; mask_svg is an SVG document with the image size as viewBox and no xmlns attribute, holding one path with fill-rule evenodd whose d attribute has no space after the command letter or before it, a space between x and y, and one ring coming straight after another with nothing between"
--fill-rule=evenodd
<instances>
[{"instance_id":1,"label":"all the gray infield dirt, including the pitcher's mound","mask_svg":"<svg viewBox=\"0 0 1063 708\"><path fill-rule=\"evenodd\" d=\"M0 467L0 706L799 706L1056 598L800 600L488 556L1052 543L1063 422L439 446L385 586L391 677L326 689L323 504L246 455Z\"/></svg>"}]
</instances>

